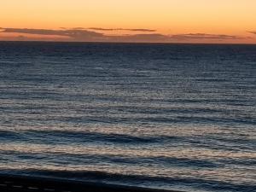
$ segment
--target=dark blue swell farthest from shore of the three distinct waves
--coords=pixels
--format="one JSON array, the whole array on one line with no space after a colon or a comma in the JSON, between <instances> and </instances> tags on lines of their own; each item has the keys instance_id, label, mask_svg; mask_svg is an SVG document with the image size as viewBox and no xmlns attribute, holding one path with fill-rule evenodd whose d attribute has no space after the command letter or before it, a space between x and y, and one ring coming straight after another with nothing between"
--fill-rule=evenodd
<instances>
[{"instance_id":1,"label":"dark blue swell farthest from shore of the three distinct waves","mask_svg":"<svg viewBox=\"0 0 256 192\"><path fill-rule=\"evenodd\" d=\"M96 131L70 131L70 130L26 130L26 131L0 131L1 142L22 142L22 143L37 143L37 144L86 144L86 143L114 143L117 145L177 145L188 144L196 148L209 148L227 151L241 151L244 149L253 150L254 139L248 135L238 135L232 137L222 137L221 135L167 135L162 132L158 135L146 132L140 135L132 133L107 133ZM189 132L188 132L189 134ZM207 141L206 141L207 139ZM212 144L214 143L214 144Z\"/></svg>"}]
</instances>

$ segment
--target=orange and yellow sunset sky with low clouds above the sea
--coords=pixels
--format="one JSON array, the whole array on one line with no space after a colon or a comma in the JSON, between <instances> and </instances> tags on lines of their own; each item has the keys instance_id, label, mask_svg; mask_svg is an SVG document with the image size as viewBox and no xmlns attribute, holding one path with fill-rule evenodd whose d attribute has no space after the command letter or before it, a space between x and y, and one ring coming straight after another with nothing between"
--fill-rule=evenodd
<instances>
[{"instance_id":1,"label":"orange and yellow sunset sky with low clouds above the sea","mask_svg":"<svg viewBox=\"0 0 256 192\"><path fill-rule=\"evenodd\" d=\"M0 40L256 44L256 1L3 0Z\"/></svg>"}]
</instances>

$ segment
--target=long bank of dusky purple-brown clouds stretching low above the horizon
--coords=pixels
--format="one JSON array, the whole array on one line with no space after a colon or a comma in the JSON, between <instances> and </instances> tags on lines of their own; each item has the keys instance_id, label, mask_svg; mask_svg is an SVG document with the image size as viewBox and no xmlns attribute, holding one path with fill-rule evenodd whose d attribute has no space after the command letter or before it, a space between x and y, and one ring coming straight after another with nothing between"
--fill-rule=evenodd
<instances>
[{"instance_id":1,"label":"long bank of dusky purple-brown clouds stretching low above the horizon","mask_svg":"<svg viewBox=\"0 0 256 192\"><path fill-rule=\"evenodd\" d=\"M110 30L123 30L123 29L106 29L106 28L94 28L95 30L110 31ZM92 30L92 28L90 28ZM15 32L32 35L45 35L45 36L60 36L65 37L69 41L89 41L89 42L153 42L153 43L170 43L170 42L194 42L198 40L236 40L241 39L238 36L224 35L224 34L207 34L207 33L187 33L176 35L164 35L160 33L139 33L139 34L127 34L127 35L107 35L102 32L90 31L82 27L76 27L72 29L61 28L60 30L53 29L28 29L28 28L1 28L0 32ZM148 29L130 29L135 32L151 32ZM256 32L252 32L255 33ZM26 37L28 38L28 37ZM53 37L52 37L53 38Z\"/></svg>"}]
</instances>

